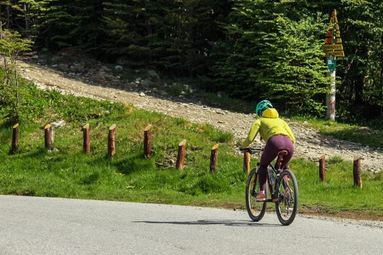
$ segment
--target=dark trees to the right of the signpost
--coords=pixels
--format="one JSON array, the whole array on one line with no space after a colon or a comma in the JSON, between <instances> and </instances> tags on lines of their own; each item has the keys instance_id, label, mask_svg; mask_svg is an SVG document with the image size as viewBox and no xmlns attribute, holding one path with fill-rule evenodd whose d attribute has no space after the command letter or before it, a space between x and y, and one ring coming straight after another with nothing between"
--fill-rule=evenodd
<instances>
[{"instance_id":1,"label":"dark trees to the right of the signpost","mask_svg":"<svg viewBox=\"0 0 383 255\"><path fill-rule=\"evenodd\" d=\"M338 11L345 57L337 69L341 82L340 120L366 125L382 116L382 1L346 0Z\"/></svg>"}]
</instances>

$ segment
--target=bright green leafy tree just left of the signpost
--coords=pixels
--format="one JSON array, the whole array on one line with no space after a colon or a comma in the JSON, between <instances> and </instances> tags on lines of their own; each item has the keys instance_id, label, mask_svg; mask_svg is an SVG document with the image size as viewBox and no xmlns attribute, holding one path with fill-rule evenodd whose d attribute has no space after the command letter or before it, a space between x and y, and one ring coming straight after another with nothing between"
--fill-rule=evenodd
<instances>
[{"instance_id":1,"label":"bright green leafy tree just left of the signpost","mask_svg":"<svg viewBox=\"0 0 383 255\"><path fill-rule=\"evenodd\" d=\"M237 1L230 37L222 42L224 61L217 62L219 81L234 96L278 107L323 112L327 92L321 42L322 17L291 14L291 5L270 1ZM245 46L245 47L244 47Z\"/></svg>"}]
</instances>

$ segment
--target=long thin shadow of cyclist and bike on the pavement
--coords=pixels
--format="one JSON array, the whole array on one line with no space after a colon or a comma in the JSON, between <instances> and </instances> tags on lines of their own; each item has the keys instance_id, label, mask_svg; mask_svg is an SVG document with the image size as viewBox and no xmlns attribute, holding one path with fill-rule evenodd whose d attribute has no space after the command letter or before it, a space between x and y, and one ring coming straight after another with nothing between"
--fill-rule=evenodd
<instances>
[{"instance_id":1,"label":"long thin shadow of cyclist and bike on the pavement","mask_svg":"<svg viewBox=\"0 0 383 255\"><path fill-rule=\"evenodd\" d=\"M134 221L148 224L174 224L174 225L224 225L230 227L282 227L280 224L259 223L253 221L232 220L198 220L198 221Z\"/></svg>"}]
</instances>

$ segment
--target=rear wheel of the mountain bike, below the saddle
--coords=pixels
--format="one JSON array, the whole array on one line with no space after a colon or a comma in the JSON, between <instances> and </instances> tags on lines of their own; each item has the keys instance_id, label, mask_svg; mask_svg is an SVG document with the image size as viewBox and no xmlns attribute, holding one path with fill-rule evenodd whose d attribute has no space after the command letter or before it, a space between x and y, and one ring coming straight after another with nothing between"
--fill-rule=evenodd
<instances>
[{"instance_id":1,"label":"rear wheel of the mountain bike, below the saddle","mask_svg":"<svg viewBox=\"0 0 383 255\"><path fill-rule=\"evenodd\" d=\"M275 203L275 210L278 220L282 225L290 225L298 210L298 183L292 171L285 169L280 174L276 185L278 201Z\"/></svg>"}]
</instances>

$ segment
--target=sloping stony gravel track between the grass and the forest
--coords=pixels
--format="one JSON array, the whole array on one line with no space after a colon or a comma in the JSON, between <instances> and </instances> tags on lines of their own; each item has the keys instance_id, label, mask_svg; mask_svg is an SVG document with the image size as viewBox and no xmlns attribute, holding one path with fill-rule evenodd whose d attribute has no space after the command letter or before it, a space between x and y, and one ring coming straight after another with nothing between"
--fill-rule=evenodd
<instances>
[{"instance_id":1,"label":"sloping stony gravel track between the grass and the forest","mask_svg":"<svg viewBox=\"0 0 383 255\"><path fill-rule=\"evenodd\" d=\"M210 107L209 102L200 102L195 96L185 98L180 94L172 97L168 94L172 85L161 82L156 74L155 79L151 79L154 71L143 74L135 70L135 78L125 79L122 78L124 67L121 65L107 65L67 55L36 57L21 62L21 65L24 68L22 76L41 89L56 89L78 96L130 103L137 108L182 117L195 123L208 123L232 133L236 140L246 137L255 120L254 114ZM185 86L190 94L190 88ZM362 170L383 170L382 149L324 136L304 124L285 120L296 136L295 157L318 161L322 154L326 154L327 158L340 156L346 160L361 156ZM260 143L258 139L254 142Z\"/></svg>"}]
</instances>

